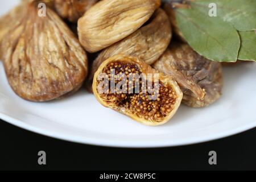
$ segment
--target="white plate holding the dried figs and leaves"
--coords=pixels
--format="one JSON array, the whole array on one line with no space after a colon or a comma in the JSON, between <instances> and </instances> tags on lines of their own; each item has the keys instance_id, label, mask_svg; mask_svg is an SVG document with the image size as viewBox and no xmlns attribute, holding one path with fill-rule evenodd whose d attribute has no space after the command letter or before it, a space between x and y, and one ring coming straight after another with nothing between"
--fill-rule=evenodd
<instances>
[{"instance_id":1,"label":"white plate holding the dried figs and leaves","mask_svg":"<svg viewBox=\"0 0 256 182\"><path fill-rule=\"evenodd\" d=\"M16 1L1 1L0 13ZM224 69L223 96L204 109L182 105L166 125L143 126L101 106L81 90L61 101L24 101L11 90L0 63L0 118L36 133L115 147L180 146L219 139L256 127L256 63Z\"/></svg>"}]
</instances>

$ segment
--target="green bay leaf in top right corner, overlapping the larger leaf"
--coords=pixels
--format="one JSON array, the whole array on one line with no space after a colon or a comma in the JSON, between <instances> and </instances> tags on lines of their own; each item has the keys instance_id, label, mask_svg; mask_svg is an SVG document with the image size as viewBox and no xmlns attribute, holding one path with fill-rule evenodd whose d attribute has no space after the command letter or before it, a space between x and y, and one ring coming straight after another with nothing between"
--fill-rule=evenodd
<instances>
[{"instance_id":1,"label":"green bay leaf in top right corner, overlapping the larger leaf","mask_svg":"<svg viewBox=\"0 0 256 182\"><path fill-rule=\"evenodd\" d=\"M256 30L256 0L197 0L192 5L209 12L210 3L216 3L217 16L238 31Z\"/></svg>"}]
</instances>

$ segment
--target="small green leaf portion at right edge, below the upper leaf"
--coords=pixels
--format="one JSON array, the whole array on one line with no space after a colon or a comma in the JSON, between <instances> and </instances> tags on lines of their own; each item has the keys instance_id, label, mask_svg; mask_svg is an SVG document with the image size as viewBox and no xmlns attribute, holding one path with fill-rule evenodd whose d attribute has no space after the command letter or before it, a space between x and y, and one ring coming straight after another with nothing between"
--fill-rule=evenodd
<instances>
[{"instance_id":1,"label":"small green leaf portion at right edge, below the upper leaf","mask_svg":"<svg viewBox=\"0 0 256 182\"><path fill-rule=\"evenodd\" d=\"M239 60L256 61L256 31L239 32L241 37L241 49Z\"/></svg>"}]
</instances>

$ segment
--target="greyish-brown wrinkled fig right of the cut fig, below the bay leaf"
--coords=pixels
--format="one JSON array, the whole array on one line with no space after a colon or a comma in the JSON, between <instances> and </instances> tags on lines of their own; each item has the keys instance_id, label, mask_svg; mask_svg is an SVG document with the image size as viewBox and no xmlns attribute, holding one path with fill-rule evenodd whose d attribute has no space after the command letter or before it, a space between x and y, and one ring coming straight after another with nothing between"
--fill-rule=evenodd
<instances>
[{"instance_id":1,"label":"greyish-brown wrinkled fig right of the cut fig, below the bay leaf","mask_svg":"<svg viewBox=\"0 0 256 182\"><path fill-rule=\"evenodd\" d=\"M183 103L205 107L218 100L222 90L222 67L197 54L185 43L171 43L153 68L172 76L183 91Z\"/></svg>"}]
</instances>

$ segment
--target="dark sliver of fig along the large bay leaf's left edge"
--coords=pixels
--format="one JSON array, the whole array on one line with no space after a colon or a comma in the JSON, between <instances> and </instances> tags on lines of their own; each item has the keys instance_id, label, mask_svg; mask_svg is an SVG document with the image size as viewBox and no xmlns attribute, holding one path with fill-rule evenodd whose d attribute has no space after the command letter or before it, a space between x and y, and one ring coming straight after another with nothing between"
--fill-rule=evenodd
<instances>
[{"instance_id":1,"label":"dark sliver of fig along the large bay leaf's left edge","mask_svg":"<svg viewBox=\"0 0 256 182\"><path fill-rule=\"evenodd\" d=\"M166 14L169 17L171 26L172 26L172 30L174 31L174 35L181 41L183 42L187 42L183 36L183 34L181 33L179 27L177 26L177 21L176 21L176 16L175 16L175 12L174 9L172 8L172 6L170 5L170 3L164 3L164 11L166 11Z\"/></svg>"}]
</instances>

